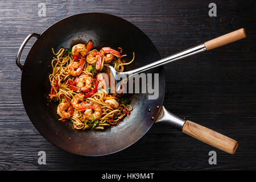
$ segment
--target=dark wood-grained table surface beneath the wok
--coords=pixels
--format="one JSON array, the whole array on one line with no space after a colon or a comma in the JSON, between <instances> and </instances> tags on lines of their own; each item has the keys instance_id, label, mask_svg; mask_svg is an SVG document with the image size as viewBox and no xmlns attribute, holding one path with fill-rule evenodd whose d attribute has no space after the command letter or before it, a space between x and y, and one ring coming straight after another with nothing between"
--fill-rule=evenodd
<instances>
[{"instance_id":1,"label":"dark wood-grained table surface beneath the wok","mask_svg":"<svg viewBox=\"0 0 256 182\"><path fill-rule=\"evenodd\" d=\"M46 16L38 16L39 3ZM0 169L256 169L256 47L254 1L1 1L0 2ZM164 106L173 113L238 140L230 155L172 128L154 125L142 139L112 155L85 157L53 146L28 119L20 95L15 56L24 38L78 13L120 16L152 40L162 57L239 28L247 38L165 65ZM118 26L118 25L117 25ZM22 54L26 59L31 40ZM208 163L209 151L217 164ZM38 152L46 152L46 165Z\"/></svg>"}]
</instances>

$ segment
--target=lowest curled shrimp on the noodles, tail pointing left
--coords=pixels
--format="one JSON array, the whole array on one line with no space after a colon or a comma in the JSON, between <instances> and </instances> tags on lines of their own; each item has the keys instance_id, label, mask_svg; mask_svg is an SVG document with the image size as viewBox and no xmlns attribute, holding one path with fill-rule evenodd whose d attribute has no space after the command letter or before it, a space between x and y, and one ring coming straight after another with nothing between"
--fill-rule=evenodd
<instances>
[{"instance_id":1,"label":"lowest curled shrimp on the noodles, tail pointing left","mask_svg":"<svg viewBox=\"0 0 256 182\"><path fill-rule=\"evenodd\" d=\"M97 119L100 119L102 115L101 107L92 102L79 106L78 111L84 111L85 118L89 119L90 121L96 121Z\"/></svg>"}]
</instances>

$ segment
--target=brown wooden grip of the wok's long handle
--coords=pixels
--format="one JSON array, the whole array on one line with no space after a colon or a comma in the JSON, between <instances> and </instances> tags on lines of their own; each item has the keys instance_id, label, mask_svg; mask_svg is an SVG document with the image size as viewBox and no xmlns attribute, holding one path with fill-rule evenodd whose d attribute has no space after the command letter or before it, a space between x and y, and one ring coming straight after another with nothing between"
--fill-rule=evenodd
<instances>
[{"instance_id":1,"label":"brown wooden grip of the wok's long handle","mask_svg":"<svg viewBox=\"0 0 256 182\"><path fill-rule=\"evenodd\" d=\"M184 123L183 133L190 135L193 138L199 139L210 146L216 147L220 150L234 154L238 147L238 142L232 138L226 137L216 131L210 130L207 127L201 126L192 121Z\"/></svg>"}]
</instances>

